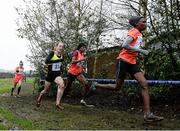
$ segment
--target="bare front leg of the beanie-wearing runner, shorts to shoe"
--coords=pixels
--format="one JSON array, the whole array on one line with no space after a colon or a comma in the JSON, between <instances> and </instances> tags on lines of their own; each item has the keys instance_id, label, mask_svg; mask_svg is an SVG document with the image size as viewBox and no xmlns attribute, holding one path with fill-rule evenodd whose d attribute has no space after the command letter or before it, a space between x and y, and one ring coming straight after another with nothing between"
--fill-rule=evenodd
<instances>
[{"instance_id":1,"label":"bare front leg of the beanie-wearing runner, shorts to shoe","mask_svg":"<svg viewBox=\"0 0 180 131\"><path fill-rule=\"evenodd\" d=\"M148 83L146 81L146 78L144 77L144 74L142 72L138 72L134 74L134 77L142 87L141 94L144 102L144 112L145 113L150 112L150 97L149 97Z\"/></svg>"}]
</instances>

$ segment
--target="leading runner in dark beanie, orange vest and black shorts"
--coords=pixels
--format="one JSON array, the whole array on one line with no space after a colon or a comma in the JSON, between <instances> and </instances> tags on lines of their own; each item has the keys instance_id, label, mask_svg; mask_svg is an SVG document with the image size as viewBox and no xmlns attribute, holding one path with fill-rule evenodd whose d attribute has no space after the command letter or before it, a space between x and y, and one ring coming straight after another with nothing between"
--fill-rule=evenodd
<instances>
[{"instance_id":1,"label":"leading runner in dark beanie, orange vest and black shorts","mask_svg":"<svg viewBox=\"0 0 180 131\"><path fill-rule=\"evenodd\" d=\"M163 117L156 116L150 112L148 83L136 62L139 53L144 55L149 54L147 50L141 49L141 44L143 42L141 32L146 29L146 20L141 16L133 16L130 18L129 23L133 28L128 31L127 38L122 45L123 49L117 57L116 84L98 84L97 82L94 82L91 89L95 90L97 87L119 90L123 85L126 73L128 72L142 87L141 93L144 100L144 120L147 122L161 121L164 119Z\"/></svg>"}]
</instances>

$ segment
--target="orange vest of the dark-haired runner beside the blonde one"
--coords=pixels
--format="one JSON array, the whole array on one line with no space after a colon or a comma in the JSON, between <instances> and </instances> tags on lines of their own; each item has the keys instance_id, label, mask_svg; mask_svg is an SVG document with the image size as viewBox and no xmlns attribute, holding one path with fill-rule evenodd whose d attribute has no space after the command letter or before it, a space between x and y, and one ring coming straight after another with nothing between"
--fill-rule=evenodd
<instances>
[{"instance_id":1,"label":"orange vest of the dark-haired runner beside the blonde one","mask_svg":"<svg viewBox=\"0 0 180 131\"><path fill-rule=\"evenodd\" d=\"M84 59L84 53L81 53L80 51L76 50L77 52L76 60ZM83 61L78 63L73 63L70 65L68 72L73 75L79 75L83 71Z\"/></svg>"}]
</instances>

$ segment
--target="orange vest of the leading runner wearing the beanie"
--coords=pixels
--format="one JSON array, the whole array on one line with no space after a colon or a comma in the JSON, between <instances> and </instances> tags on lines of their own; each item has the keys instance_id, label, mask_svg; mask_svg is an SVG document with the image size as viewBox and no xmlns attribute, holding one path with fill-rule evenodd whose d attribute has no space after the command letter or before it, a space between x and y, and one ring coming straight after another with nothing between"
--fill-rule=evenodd
<instances>
[{"instance_id":1,"label":"orange vest of the leading runner wearing the beanie","mask_svg":"<svg viewBox=\"0 0 180 131\"><path fill-rule=\"evenodd\" d=\"M142 44L142 34L138 29L132 28L128 32L128 36L133 38L133 41L130 43L130 46L140 48ZM128 49L123 49L117 59L123 59L130 64L136 64L136 57L139 55L138 52L132 52Z\"/></svg>"}]
</instances>

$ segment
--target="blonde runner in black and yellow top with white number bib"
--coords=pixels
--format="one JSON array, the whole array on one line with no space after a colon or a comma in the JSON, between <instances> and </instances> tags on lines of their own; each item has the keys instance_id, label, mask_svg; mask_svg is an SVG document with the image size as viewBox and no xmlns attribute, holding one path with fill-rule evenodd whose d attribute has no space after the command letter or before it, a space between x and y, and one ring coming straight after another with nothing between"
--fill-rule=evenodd
<instances>
[{"instance_id":1,"label":"blonde runner in black and yellow top with white number bib","mask_svg":"<svg viewBox=\"0 0 180 131\"><path fill-rule=\"evenodd\" d=\"M58 85L56 107L60 110L64 109L61 103L61 98L65 89L64 80L61 77L63 50L64 50L64 43L58 42L55 45L54 50L49 53L49 55L45 60L45 64L48 65L48 73L45 80L44 89L40 92L39 97L37 99L37 107L40 107L40 102L43 95L49 92L51 83L55 82Z\"/></svg>"}]
</instances>

